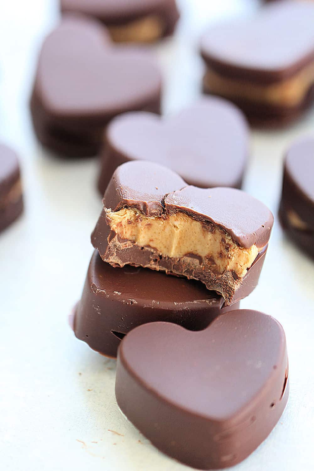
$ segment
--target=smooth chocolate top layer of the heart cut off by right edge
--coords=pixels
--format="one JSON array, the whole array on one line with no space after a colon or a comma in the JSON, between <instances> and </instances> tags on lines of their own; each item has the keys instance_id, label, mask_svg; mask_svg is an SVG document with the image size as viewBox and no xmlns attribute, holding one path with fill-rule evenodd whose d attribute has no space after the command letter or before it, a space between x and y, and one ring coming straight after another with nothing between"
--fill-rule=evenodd
<instances>
[{"instance_id":1,"label":"smooth chocolate top layer of the heart cut off by right edge","mask_svg":"<svg viewBox=\"0 0 314 471\"><path fill-rule=\"evenodd\" d=\"M299 140L288 150L282 200L314 228L314 138Z\"/></svg>"}]
</instances>

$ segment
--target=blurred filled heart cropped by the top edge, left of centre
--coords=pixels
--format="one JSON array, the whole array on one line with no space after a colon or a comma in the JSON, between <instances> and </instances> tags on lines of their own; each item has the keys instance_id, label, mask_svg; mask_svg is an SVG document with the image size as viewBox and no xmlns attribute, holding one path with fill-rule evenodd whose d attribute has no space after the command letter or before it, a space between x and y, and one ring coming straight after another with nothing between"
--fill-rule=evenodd
<instances>
[{"instance_id":1,"label":"blurred filled heart cropped by the top edge, left of centre","mask_svg":"<svg viewBox=\"0 0 314 471\"><path fill-rule=\"evenodd\" d=\"M175 0L60 0L60 7L95 16L113 41L156 41L171 34L179 18Z\"/></svg>"}]
</instances>

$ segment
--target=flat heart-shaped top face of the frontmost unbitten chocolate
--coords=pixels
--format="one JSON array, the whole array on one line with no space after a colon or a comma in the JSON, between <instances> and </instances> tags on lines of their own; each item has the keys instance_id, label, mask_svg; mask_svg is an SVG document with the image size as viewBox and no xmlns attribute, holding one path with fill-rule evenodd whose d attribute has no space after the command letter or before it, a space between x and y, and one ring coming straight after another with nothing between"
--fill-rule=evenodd
<instances>
[{"instance_id":1,"label":"flat heart-shaped top face of the frontmost unbitten chocolate","mask_svg":"<svg viewBox=\"0 0 314 471\"><path fill-rule=\"evenodd\" d=\"M119 358L161 400L222 421L265 394L285 351L285 334L273 317L242 309L218 316L201 332L141 325L122 340Z\"/></svg>"}]
</instances>

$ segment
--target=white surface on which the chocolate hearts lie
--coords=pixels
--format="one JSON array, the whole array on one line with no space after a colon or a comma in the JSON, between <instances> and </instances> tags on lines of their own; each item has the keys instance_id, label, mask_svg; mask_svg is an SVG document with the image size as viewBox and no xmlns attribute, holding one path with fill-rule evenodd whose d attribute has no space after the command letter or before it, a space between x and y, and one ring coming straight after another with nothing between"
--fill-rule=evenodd
<instances>
[{"instance_id":1,"label":"white surface on which the chocolate hearts lie","mask_svg":"<svg viewBox=\"0 0 314 471\"><path fill-rule=\"evenodd\" d=\"M259 8L253 0L182 0L175 39L156 50L165 75L164 111L197 97L204 26ZM81 295L100 208L95 159L66 162L32 133L28 99L41 39L56 23L57 2L11 0L0 7L0 140L21 156L24 216L0 234L0 468L3 470L165 470L187 467L158 452L120 414L115 360L75 339L67 315ZM282 154L314 135L314 110L284 131L254 131L244 189L276 216ZM313 470L314 263L275 223L258 288L242 307L283 325L290 399L268 439L234 469ZM113 431L121 435L117 435Z\"/></svg>"}]
</instances>

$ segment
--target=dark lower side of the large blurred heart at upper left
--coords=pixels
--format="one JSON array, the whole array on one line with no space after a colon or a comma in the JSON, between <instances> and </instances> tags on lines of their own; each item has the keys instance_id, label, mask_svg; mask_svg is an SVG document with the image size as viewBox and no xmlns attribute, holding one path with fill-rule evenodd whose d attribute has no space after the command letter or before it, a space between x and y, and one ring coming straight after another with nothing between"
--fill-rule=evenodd
<instances>
[{"instance_id":1,"label":"dark lower side of the large blurred heart at upper left","mask_svg":"<svg viewBox=\"0 0 314 471\"><path fill-rule=\"evenodd\" d=\"M33 128L40 143L53 152L70 158L96 155L102 145L105 126L113 118L82 118L76 122L56 120L46 112L34 91L30 107ZM159 100L147 103L140 111L160 114Z\"/></svg>"}]
</instances>

